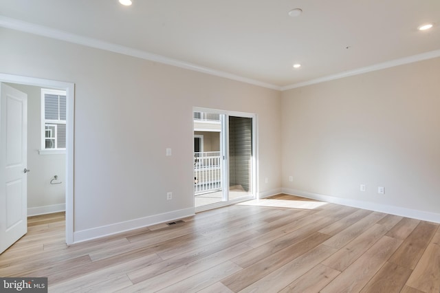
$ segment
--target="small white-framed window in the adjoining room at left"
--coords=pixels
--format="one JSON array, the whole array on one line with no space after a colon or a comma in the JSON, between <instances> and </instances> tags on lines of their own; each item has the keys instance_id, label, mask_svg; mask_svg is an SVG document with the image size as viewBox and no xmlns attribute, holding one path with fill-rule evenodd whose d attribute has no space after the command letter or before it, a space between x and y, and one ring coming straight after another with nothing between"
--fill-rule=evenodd
<instances>
[{"instance_id":1,"label":"small white-framed window in the adjoining room at left","mask_svg":"<svg viewBox=\"0 0 440 293\"><path fill-rule=\"evenodd\" d=\"M66 149L66 92L41 89L41 151L64 153Z\"/></svg>"}]
</instances>

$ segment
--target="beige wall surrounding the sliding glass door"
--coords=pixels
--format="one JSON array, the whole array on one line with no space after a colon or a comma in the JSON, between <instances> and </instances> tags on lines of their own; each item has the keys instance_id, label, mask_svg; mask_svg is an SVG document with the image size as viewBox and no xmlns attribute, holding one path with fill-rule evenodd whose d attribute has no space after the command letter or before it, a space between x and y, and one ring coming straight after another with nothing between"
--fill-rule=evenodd
<instances>
[{"instance_id":1,"label":"beige wall surrounding the sliding glass door","mask_svg":"<svg viewBox=\"0 0 440 293\"><path fill-rule=\"evenodd\" d=\"M115 232L135 219L193 212L192 107L256 113L259 192L281 191L280 92L13 30L0 34L1 72L75 83L76 240L99 236L103 226Z\"/></svg>"}]
</instances>

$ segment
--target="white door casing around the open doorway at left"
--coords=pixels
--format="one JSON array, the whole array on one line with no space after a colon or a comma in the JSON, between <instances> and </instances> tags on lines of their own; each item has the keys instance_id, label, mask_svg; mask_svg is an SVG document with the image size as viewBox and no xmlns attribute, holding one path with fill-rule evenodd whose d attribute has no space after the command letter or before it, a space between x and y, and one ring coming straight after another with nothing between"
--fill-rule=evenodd
<instances>
[{"instance_id":1,"label":"white door casing around the open doorway at left","mask_svg":"<svg viewBox=\"0 0 440 293\"><path fill-rule=\"evenodd\" d=\"M66 190L65 190L65 217L66 217L66 243L74 243L74 105L75 84L63 81L12 74L1 74L0 82L33 85L36 87L49 87L66 91Z\"/></svg>"}]
</instances>

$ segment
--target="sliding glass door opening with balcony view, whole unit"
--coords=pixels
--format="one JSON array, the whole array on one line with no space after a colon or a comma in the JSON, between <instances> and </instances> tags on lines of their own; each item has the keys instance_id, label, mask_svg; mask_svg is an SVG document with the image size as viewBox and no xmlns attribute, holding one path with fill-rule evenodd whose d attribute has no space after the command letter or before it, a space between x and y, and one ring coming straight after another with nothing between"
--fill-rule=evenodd
<instances>
[{"instance_id":1,"label":"sliding glass door opening with balcony view, whole unit","mask_svg":"<svg viewBox=\"0 0 440 293\"><path fill-rule=\"evenodd\" d=\"M193 109L196 211L255 198L256 116Z\"/></svg>"}]
</instances>

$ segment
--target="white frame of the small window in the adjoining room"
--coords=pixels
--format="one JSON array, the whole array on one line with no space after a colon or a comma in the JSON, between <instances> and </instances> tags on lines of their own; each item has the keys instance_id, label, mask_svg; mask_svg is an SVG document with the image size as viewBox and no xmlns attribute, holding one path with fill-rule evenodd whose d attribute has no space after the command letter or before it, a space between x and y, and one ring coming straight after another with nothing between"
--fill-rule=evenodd
<instances>
[{"instance_id":1,"label":"white frame of the small window in the adjoining room","mask_svg":"<svg viewBox=\"0 0 440 293\"><path fill-rule=\"evenodd\" d=\"M45 95L57 95L57 96L66 96L66 91L62 91L59 89L41 89L41 149L39 150L40 155L58 155L66 153L66 149L58 149L56 141L57 133L55 133L55 149L46 149L46 127L45 124L66 124L65 120L49 120L45 119ZM58 103L59 107L59 103ZM59 109L58 109L59 110ZM58 111L58 118L60 112ZM67 114L67 113L66 113ZM66 118L67 119L67 118Z\"/></svg>"}]
</instances>

